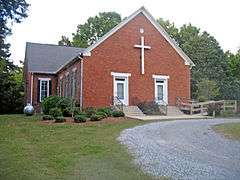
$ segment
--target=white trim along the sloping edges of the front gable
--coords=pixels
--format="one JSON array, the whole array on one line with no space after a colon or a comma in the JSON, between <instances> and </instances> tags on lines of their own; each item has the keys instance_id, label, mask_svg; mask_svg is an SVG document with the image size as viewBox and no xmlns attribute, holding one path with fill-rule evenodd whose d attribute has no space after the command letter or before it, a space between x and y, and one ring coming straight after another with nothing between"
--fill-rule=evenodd
<instances>
[{"instance_id":1,"label":"white trim along the sloping edges of the front gable","mask_svg":"<svg viewBox=\"0 0 240 180\"><path fill-rule=\"evenodd\" d=\"M117 26L115 26L112 30L110 30L108 33L102 36L98 41L96 41L94 44L86 48L84 53L90 54L95 47L100 45L103 41L105 41L108 37L110 37L112 34L114 34L116 31L118 31L120 28L122 28L125 24L127 24L129 21L131 21L140 13L142 13L152 23L152 25L159 31L159 33L169 42L169 44L183 58L183 60L185 61L185 65L195 66L192 60L183 52L183 50L168 35L168 33L164 30L164 28L161 27L161 25L153 18L153 16L146 10L145 7L141 7L140 9L135 11L133 14L131 14L129 17L127 17L125 20L123 20L121 23L119 23Z\"/></svg>"}]
</instances>

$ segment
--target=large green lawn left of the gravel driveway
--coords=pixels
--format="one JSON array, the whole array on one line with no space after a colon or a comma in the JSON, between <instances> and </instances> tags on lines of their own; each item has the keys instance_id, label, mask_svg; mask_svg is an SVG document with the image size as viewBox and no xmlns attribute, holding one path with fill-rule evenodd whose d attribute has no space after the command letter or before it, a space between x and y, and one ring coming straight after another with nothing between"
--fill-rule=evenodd
<instances>
[{"instance_id":1,"label":"large green lawn left of the gravel driveway","mask_svg":"<svg viewBox=\"0 0 240 180\"><path fill-rule=\"evenodd\" d=\"M120 132L144 122L42 124L0 116L0 179L151 179L132 163Z\"/></svg>"}]
</instances>

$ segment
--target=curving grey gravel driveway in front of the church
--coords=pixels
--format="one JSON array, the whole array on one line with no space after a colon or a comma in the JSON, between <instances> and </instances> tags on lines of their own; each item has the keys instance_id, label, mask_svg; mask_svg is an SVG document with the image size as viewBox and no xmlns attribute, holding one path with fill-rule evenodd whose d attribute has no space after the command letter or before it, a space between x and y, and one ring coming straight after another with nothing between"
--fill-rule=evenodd
<instances>
[{"instance_id":1,"label":"curving grey gravel driveway in front of the church","mask_svg":"<svg viewBox=\"0 0 240 180\"><path fill-rule=\"evenodd\" d=\"M173 179L240 179L240 142L211 126L237 119L154 122L124 130L135 163L154 176Z\"/></svg>"}]
</instances>

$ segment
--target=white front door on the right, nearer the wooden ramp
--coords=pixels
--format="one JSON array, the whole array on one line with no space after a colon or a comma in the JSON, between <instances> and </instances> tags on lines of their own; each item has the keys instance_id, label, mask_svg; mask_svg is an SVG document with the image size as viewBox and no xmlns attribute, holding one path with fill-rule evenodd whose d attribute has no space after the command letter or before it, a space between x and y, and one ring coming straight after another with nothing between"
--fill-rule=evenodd
<instances>
[{"instance_id":1,"label":"white front door on the right, nearer the wooden ramp","mask_svg":"<svg viewBox=\"0 0 240 180\"><path fill-rule=\"evenodd\" d=\"M155 102L160 105L168 103L167 80L155 80Z\"/></svg>"}]
</instances>

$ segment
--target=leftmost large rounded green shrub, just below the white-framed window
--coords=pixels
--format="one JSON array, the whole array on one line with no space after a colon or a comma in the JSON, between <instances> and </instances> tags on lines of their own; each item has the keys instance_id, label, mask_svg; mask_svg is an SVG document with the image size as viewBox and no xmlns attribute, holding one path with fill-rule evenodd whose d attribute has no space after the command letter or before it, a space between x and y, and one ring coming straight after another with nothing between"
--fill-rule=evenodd
<instances>
[{"instance_id":1,"label":"leftmost large rounded green shrub, just below the white-framed window","mask_svg":"<svg viewBox=\"0 0 240 180\"><path fill-rule=\"evenodd\" d=\"M49 96L41 103L42 111L44 114L49 114L50 109L57 107L58 101L61 99L59 96Z\"/></svg>"}]
</instances>

